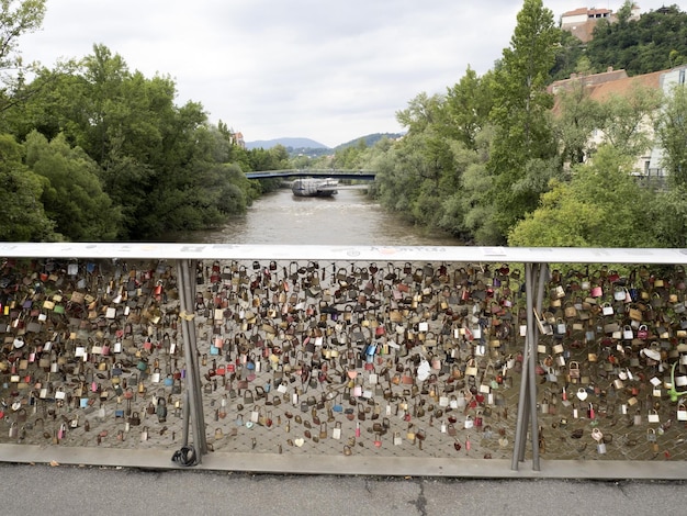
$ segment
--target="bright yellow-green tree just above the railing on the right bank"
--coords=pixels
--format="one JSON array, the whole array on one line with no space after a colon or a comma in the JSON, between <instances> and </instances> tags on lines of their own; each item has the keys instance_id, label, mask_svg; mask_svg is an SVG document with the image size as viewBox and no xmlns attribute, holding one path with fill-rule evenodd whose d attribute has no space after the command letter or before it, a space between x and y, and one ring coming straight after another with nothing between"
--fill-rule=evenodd
<instances>
[{"instance_id":1,"label":"bright yellow-green tree just above the railing on the right bank","mask_svg":"<svg viewBox=\"0 0 687 516\"><path fill-rule=\"evenodd\" d=\"M602 145L574 167L570 182L554 181L541 206L508 235L516 247L656 247L652 191L631 176L632 157Z\"/></svg>"}]
</instances>

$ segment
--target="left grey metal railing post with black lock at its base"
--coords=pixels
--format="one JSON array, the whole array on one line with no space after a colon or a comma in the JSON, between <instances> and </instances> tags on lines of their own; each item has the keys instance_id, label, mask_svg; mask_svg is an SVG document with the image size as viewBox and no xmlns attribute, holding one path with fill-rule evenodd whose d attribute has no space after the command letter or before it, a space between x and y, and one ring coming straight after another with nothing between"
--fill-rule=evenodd
<instances>
[{"instance_id":1,"label":"left grey metal railing post with black lock at its base","mask_svg":"<svg viewBox=\"0 0 687 516\"><path fill-rule=\"evenodd\" d=\"M193 273L191 273L193 271ZM207 452L203 397L201 392L200 369L198 363L198 345L195 339L195 260L178 260L177 274L180 283L179 300L181 332L183 336L183 356L187 364L187 390L190 424L193 428L193 441L199 462Z\"/></svg>"}]
</instances>

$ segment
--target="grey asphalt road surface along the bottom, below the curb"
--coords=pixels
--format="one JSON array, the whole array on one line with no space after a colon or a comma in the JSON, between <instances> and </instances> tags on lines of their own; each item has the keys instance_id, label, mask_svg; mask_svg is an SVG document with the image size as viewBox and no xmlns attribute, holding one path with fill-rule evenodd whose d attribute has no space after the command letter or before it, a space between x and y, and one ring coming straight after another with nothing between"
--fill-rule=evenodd
<instances>
[{"instance_id":1,"label":"grey asphalt road surface along the bottom, below the curb","mask_svg":"<svg viewBox=\"0 0 687 516\"><path fill-rule=\"evenodd\" d=\"M630 465L631 467L631 465ZM684 482L256 475L0 463L3 515L685 514Z\"/></svg>"}]
</instances>

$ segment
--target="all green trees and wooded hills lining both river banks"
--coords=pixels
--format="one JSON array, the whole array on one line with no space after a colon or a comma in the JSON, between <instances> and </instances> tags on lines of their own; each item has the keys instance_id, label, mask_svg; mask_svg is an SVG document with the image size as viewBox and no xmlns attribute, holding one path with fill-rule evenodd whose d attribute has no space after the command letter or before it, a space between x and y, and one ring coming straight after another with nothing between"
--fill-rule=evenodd
<instances>
[{"instance_id":1,"label":"all green trees and wooded hills lining both river banks","mask_svg":"<svg viewBox=\"0 0 687 516\"><path fill-rule=\"evenodd\" d=\"M525 0L493 69L477 76L468 67L443 94L418 92L399 106L403 137L369 135L315 157L283 145L243 148L202 104L176 105L171 78L132 71L104 45L54 68L26 65L19 40L41 29L46 5L0 5L2 240L139 240L219 226L279 186L245 172L337 167L378 170L371 194L383 206L462 242L685 247L684 93L638 90L598 105L573 91L553 117L545 91L573 71L687 63L687 19L675 5L599 24L585 46L559 30L541 0ZM628 178L651 143L643 116L661 106L656 137L671 181L654 191ZM596 130L610 148L589 145ZM592 155L594 164L585 160Z\"/></svg>"}]
</instances>

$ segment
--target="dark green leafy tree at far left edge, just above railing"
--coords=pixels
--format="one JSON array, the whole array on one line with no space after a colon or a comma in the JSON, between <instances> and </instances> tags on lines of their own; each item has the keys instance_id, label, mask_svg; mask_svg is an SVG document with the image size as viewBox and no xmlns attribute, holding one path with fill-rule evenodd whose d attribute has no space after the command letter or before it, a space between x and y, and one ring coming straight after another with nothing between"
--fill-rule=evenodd
<instances>
[{"instance_id":1,"label":"dark green leafy tree at far left edge, just above railing","mask_svg":"<svg viewBox=\"0 0 687 516\"><path fill-rule=\"evenodd\" d=\"M22 146L12 135L0 134L0 189L3 194L0 240L55 240L55 224L45 214L41 202L47 181L24 165L22 155Z\"/></svg>"}]
</instances>

